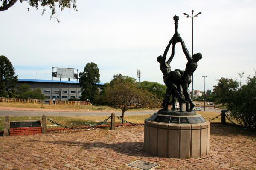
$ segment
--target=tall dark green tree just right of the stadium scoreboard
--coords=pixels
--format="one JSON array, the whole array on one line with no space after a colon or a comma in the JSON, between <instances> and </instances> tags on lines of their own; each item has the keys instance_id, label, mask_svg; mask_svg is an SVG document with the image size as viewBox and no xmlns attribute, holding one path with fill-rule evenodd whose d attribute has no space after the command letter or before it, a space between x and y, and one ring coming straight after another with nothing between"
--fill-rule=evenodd
<instances>
[{"instance_id":1,"label":"tall dark green tree just right of the stadium scoreboard","mask_svg":"<svg viewBox=\"0 0 256 170\"><path fill-rule=\"evenodd\" d=\"M82 100L89 100L94 103L96 96L99 95L99 91L96 83L99 83L99 68L97 64L91 62L87 63L84 67L84 72L79 73L79 85L82 90Z\"/></svg>"}]
</instances>

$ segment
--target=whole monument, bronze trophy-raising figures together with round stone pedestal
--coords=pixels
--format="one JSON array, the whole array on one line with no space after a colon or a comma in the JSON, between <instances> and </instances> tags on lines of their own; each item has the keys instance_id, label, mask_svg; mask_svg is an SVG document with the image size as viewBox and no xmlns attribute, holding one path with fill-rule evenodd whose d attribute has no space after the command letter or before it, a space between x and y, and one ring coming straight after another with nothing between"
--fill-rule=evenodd
<instances>
[{"instance_id":1,"label":"whole monument, bronze trophy-raising figures together with round stone pedestal","mask_svg":"<svg viewBox=\"0 0 256 170\"><path fill-rule=\"evenodd\" d=\"M197 62L202 59L202 54L196 53L193 56L189 54L185 42L178 33L179 17L175 15L173 20L175 33L169 40L163 56L157 57L167 87L162 102L163 108L145 119L144 150L153 155L170 158L204 156L209 153L210 123L193 111L195 105L188 91L191 76L198 66ZM171 45L172 53L166 61ZM176 45L181 45L187 59L185 70L171 70L170 64L175 57ZM179 103L179 111L175 109L176 99ZM183 111L183 103L186 104L186 111ZM170 104L172 110L168 109Z\"/></svg>"}]
</instances>

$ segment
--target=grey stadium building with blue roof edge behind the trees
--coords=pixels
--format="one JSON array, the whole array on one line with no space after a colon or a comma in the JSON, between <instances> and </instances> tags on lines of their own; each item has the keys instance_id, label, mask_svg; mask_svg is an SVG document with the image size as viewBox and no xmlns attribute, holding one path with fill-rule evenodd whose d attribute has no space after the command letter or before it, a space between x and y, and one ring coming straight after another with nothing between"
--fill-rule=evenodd
<instances>
[{"instance_id":1,"label":"grey stadium building with blue roof edge behind the trees","mask_svg":"<svg viewBox=\"0 0 256 170\"><path fill-rule=\"evenodd\" d=\"M79 82L59 81L59 80L39 80L39 79L18 79L17 87L27 84L31 89L40 88L45 95L45 101L68 100L70 98L81 98L82 91ZM102 91L104 83L96 84L99 92ZM61 95L60 95L61 94Z\"/></svg>"}]
</instances>

